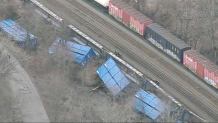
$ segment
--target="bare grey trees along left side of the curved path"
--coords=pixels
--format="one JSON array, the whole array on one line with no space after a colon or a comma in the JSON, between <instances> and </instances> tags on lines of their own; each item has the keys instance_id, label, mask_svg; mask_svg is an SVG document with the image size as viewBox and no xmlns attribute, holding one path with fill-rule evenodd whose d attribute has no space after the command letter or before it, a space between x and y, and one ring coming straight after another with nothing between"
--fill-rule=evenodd
<instances>
[{"instance_id":1,"label":"bare grey trees along left side of the curved path","mask_svg":"<svg viewBox=\"0 0 218 123\"><path fill-rule=\"evenodd\" d=\"M17 57L19 60L12 60L12 56ZM21 122L21 109L23 102L20 103L19 94L13 94L12 87L9 79L12 73L20 72L16 69L16 65L25 60L29 60L30 57L22 52L19 47L13 45L13 42L1 36L0 41L0 91L2 91L0 97L4 99L0 103L2 111L1 121L5 122ZM6 82L7 81L7 82ZM7 84L6 84L7 83ZM8 88L8 90L4 90L4 87ZM5 93L6 92L6 93Z\"/></svg>"}]
</instances>

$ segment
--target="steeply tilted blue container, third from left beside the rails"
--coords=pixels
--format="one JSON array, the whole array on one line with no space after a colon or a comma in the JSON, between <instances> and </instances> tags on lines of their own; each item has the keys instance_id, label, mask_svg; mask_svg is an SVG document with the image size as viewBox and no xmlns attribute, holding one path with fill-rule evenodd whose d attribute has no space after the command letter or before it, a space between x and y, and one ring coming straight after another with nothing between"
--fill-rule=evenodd
<instances>
[{"instance_id":1,"label":"steeply tilted blue container, third from left beside the rails","mask_svg":"<svg viewBox=\"0 0 218 123\"><path fill-rule=\"evenodd\" d=\"M109 58L98 69L97 73L107 88L116 96L129 81L112 58Z\"/></svg>"}]
</instances>

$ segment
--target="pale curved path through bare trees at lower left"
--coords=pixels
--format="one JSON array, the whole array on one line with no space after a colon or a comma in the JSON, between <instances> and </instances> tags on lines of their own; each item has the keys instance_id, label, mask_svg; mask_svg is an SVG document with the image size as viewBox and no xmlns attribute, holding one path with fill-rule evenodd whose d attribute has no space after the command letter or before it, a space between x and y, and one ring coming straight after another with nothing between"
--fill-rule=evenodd
<instances>
[{"instance_id":1,"label":"pale curved path through bare trees at lower left","mask_svg":"<svg viewBox=\"0 0 218 123\"><path fill-rule=\"evenodd\" d=\"M3 53L7 54L8 51L4 50ZM15 61L16 59L11 56L9 62ZM17 72L12 73L7 80L10 82L14 96L19 97L18 103L23 122L49 122L42 101L28 74L18 62L15 70Z\"/></svg>"}]
</instances>

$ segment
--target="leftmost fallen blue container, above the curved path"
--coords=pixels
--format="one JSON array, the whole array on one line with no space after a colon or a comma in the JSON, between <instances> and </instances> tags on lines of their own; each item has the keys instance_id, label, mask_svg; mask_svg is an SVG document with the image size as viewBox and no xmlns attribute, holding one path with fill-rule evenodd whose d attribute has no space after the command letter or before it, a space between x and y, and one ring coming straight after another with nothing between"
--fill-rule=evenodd
<instances>
[{"instance_id":1,"label":"leftmost fallen blue container, above the curved path","mask_svg":"<svg viewBox=\"0 0 218 123\"><path fill-rule=\"evenodd\" d=\"M13 20L8 19L1 22L0 27L3 31L8 33L12 39L17 41L23 49L26 49L27 43L30 43L32 48L37 47L37 37L29 33L29 38L27 40L27 32L19 24L15 23ZM29 41L29 42L27 42Z\"/></svg>"}]
</instances>

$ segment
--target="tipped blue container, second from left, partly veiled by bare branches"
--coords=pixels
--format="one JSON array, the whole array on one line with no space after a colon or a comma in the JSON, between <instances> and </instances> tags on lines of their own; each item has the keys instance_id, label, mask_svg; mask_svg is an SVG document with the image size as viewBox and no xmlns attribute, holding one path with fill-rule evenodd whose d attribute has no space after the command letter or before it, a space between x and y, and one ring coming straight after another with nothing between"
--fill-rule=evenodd
<instances>
[{"instance_id":1,"label":"tipped blue container, second from left, partly veiled by bare branches","mask_svg":"<svg viewBox=\"0 0 218 123\"><path fill-rule=\"evenodd\" d=\"M58 49L64 51L64 55L68 60L74 60L82 66L86 66L95 56L95 52L91 47L79 45L71 41L65 41L59 37L57 37L49 47L49 53L53 54L57 52Z\"/></svg>"}]
</instances>

